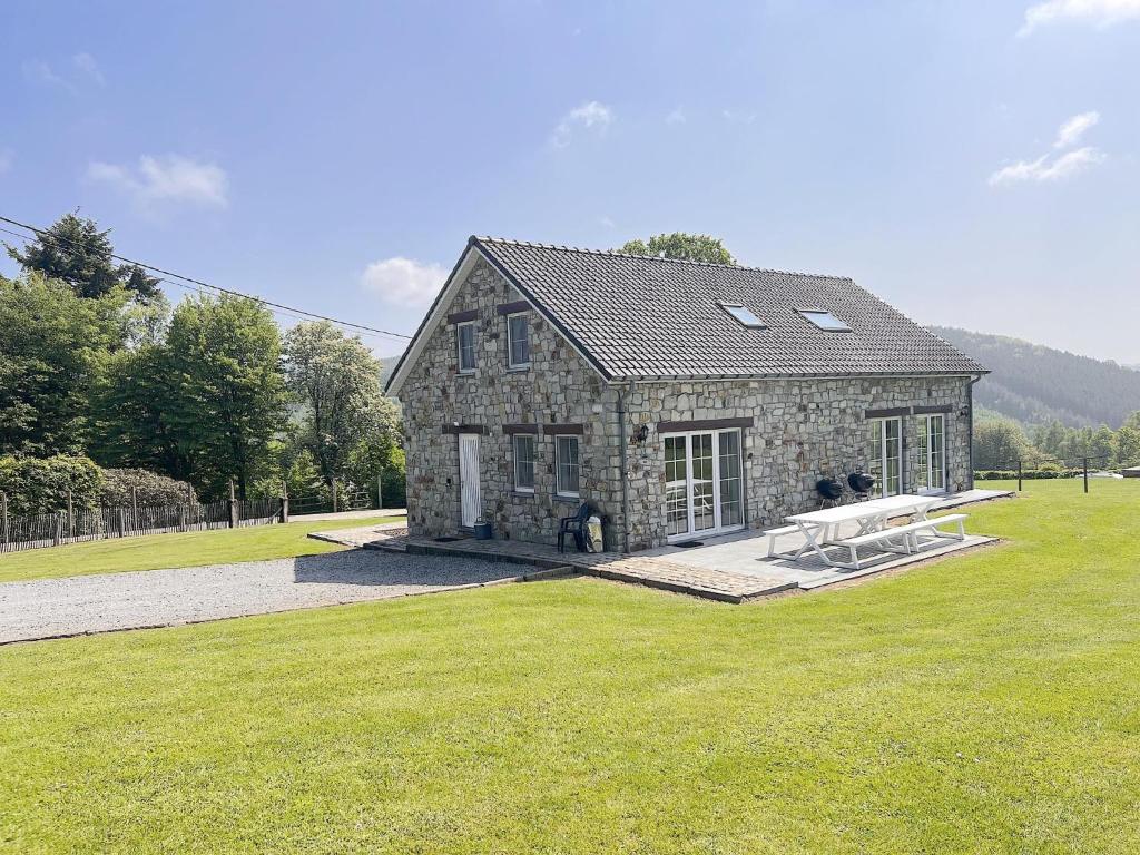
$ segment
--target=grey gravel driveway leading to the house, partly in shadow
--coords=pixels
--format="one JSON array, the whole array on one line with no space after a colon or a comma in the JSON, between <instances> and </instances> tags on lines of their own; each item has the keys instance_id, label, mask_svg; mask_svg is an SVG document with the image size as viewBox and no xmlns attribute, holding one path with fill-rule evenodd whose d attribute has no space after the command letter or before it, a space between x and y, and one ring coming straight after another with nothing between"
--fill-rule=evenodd
<instances>
[{"instance_id":1,"label":"grey gravel driveway leading to the house, partly in shadow","mask_svg":"<svg viewBox=\"0 0 1140 855\"><path fill-rule=\"evenodd\" d=\"M495 561L350 549L0 585L0 643L169 626L443 591L529 572Z\"/></svg>"}]
</instances>

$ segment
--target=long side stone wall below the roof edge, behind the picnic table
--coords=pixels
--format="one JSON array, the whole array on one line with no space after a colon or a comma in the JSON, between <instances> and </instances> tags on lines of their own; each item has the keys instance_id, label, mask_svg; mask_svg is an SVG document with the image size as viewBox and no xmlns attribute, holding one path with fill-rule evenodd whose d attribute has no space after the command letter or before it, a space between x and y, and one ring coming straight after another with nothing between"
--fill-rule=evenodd
<instances>
[{"instance_id":1,"label":"long side stone wall below the roof edge, behind the picnic table","mask_svg":"<svg viewBox=\"0 0 1140 855\"><path fill-rule=\"evenodd\" d=\"M629 454L630 548L663 544L665 442L659 422L752 418L743 433L746 516L751 528L769 528L788 514L819 505L821 477L844 480L868 465L866 410L948 407L947 486L972 486L964 377L766 380L637 384L629 393L629 434L646 425L644 443ZM914 489L918 416L902 418L903 487Z\"/></svg>"}]
</instances>

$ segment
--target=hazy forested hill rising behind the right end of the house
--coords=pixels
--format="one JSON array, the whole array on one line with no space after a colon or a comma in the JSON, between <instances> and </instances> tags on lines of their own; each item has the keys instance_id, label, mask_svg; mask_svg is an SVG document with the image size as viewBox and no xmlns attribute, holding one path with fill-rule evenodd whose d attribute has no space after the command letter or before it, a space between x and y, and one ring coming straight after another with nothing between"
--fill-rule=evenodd
<instances>
[{"instance_id":1,"label":"hazy forested hill rising behind the right end of the house","mask_svg":"<svg viewBox=\"0 0 1140 855\"><path fill-rule=\"evenodd\" d=\"M1118 427L1140 409L1140 372L1031 344L1004 335L930 327L993 374L975 386L975 402L1026 424Z\"/></svg>"}]
</instances>

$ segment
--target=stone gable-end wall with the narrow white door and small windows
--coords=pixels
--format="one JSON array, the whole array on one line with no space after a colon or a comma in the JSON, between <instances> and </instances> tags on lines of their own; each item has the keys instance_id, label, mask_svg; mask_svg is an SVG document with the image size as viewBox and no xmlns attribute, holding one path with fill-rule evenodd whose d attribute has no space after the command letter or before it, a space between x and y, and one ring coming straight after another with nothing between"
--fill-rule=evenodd
<instances>
[{"instance_id":1,"label":"stone gable-end wall with the narrow white door and small windows","mask_svg":"<svg viewBox=\"0 0 1140 855\"><path fill-rule=\"evenodd\" d=\"M554 543L559 519L588 502L605 518L620 507L617 392L536 311L529 312L530 367L507 367L506 317L498 307L521 295L486 261L478 261L447 314L474 310L478 369L461 375L455 325L442 318L401 391L408 466L408 527L415 535L454 536L461 523L459 423L480 438L481 504L495 536ZM532 424L535 491L514 490L514 449L504 425ZM555 496L554 438L548 425L581 425L580 499ZM612 536L612 522L608 527Z\"/></svg>"}]
</instances>

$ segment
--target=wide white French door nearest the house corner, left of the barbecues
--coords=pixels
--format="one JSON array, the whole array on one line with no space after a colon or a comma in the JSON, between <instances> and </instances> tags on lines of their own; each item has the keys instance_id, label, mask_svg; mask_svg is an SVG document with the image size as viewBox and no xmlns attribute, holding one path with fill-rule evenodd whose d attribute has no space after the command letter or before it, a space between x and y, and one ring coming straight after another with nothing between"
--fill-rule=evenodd
<instances>
[{"instance_id":1,"label":"wide white French door nearest the house corner, left of the barbecues","mask_svg":"<svg viewBox=\"0 0 1140 855\"><path fill-rule=\"evenodd\" d=\"M739 430L665 435L665 522L670 540L743 526Z\"/></svg>"}]
</instances>

